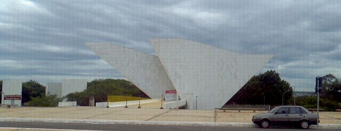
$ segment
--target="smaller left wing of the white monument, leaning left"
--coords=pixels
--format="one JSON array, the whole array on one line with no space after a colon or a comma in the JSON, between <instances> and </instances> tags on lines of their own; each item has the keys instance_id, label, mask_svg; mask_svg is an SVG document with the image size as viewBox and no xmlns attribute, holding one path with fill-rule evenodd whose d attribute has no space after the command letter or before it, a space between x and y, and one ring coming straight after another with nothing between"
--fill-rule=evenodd
<instances>
[{"instance_id":1,"label":"smaller left wing of the white monument, leaning left","mask_svg":"<svg viewBox=\"0 0 341 131\"><path fill-rule=\"evenodd\" d=\"M151 98L161 98L166 90L175 89L154 55L115 44L86 43L86 46Z\"/></svg>"}]
</instances>

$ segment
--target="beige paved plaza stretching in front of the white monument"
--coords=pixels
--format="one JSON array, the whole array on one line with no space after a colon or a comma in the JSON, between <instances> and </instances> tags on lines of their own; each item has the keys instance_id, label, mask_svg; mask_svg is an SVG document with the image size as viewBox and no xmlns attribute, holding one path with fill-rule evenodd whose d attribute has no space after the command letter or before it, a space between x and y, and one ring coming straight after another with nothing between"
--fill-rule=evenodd
<instances>
[{"instance_id":1,"label":"beige paved plaza stretching in front of the white monument","mask_svg":"<svg viewBox=\"0 0 341 131\"><path fill-rule=\"evenodd\" d=\"M0 108L0 121L39 121L103 124L158 124L158 125L206 125L206 126L256 126L252 115L266 111L187 110L160 109L146 104L128 108L63 107ZM320 112L321 128L340 128L341 112ZM311 126L314 128L314 125Z\"/></svg>"}]
</instances>

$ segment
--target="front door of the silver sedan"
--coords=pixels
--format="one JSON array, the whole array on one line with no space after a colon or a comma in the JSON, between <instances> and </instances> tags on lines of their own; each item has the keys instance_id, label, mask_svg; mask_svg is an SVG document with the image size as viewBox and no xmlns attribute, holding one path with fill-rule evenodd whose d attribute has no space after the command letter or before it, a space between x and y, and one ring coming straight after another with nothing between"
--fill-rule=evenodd
<instances>
[{"instance_id":1,"label":"front door of the silver sedan","mask_svg":"<svg viewBox=\"0 0 341 131\"><path fill-rule=\"evenodd\" d=\"M286 124L288 122L289 108L282 107L278 109L272 117L273 124Z\"/></svg>"}]
</instances>

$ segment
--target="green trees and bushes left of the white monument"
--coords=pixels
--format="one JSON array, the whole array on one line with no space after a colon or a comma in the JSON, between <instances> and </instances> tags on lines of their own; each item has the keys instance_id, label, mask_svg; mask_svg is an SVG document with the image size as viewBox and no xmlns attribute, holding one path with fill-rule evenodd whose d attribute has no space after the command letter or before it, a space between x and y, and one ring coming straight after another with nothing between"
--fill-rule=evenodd
<instances>
[{"instance_id":1,"label":"green trees and bushes left of the white monument","mask_svg":"<svg viewBox=\"0 0 341 131\"><path fill-rule=\"evenodd\" d=\"M46 87L34 80L22 83L21 103L23 106L57 107L63 100L77 101L80 106L88 106L89 98L95 98L95 102L106 102L107 95L128 95L148 97L131 82L121 79L100 79L87 84L87 88L81 92L74 92L65 97L46 95ZM2 80L0 80L0 92L2 92ZM2 94L1 94L2 95Z\"/></svg>"}]
</instances>

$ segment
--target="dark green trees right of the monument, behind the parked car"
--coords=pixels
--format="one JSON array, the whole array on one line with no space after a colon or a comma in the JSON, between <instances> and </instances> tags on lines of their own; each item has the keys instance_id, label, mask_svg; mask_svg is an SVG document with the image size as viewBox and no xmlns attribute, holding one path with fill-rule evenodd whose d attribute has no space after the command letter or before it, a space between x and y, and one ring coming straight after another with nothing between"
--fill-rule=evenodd
<instances>
[{"instance_id":1,"label":"dark green trees right of the monument, behind the parked car","mask_svg":"<svg viewBox=\"0 0 341 131\"><path fill-rule=\"evenodd\" d=\"M322 78L320 107L324 110L341 109L340 79L332 74ZM226 104L271 106L283 104L317 108L317 92L310 96L295 96L295 98L293 94L293 87L282 80L275 70L269 70L253 76Z\"/></svg>"}]
</instances>

